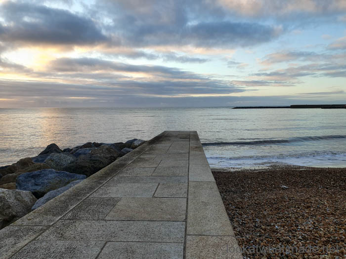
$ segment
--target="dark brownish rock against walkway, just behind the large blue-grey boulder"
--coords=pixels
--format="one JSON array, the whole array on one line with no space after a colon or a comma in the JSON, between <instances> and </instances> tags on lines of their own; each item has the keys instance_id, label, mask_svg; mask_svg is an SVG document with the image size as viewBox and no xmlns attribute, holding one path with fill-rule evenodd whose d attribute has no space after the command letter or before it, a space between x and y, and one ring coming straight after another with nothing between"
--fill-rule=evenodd
<instances>
[{"instance_id":1,"label":"dark brownish rock against walkway, just behind the large blue-grey boulder","mask_svg":"<svg viewBox=\"0 0 346 259\"><path fill-rule=\"evenodd\" d=\"M74 174L86 175L87 177L101 170L109 163L106 158L91 154L81 155L62 170Z\"/></svg>"}]
</instances>

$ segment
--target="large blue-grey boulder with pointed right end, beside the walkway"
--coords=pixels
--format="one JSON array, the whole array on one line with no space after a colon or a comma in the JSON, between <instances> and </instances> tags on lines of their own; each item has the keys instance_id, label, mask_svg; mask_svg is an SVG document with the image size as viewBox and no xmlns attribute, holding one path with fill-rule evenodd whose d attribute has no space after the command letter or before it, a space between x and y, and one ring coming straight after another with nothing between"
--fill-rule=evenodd
<instances>
[{"instance_id":1,"label":"large blue-grey boulder with pointed right end, beside the walkway","mask_svg":"<svg viewBox=\"0 0 346 259\"><path fill-rule=\"evenodd\" d=\"M53 169L43 169L25 173L17 177L16 188L31 191L35 197L41 198L45 193L63 187L73 181L86 179L85 175L71 174Z\"/></svg>"}]
</instances>

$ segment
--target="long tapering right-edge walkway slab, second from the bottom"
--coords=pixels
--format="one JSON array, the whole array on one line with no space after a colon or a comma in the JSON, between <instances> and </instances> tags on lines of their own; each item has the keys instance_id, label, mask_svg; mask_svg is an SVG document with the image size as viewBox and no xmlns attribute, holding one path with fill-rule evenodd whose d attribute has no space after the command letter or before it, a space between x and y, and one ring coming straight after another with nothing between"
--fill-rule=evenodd
<instances>
[{"instance_id":1,"label":"long tapering right-edge walkway slab, second from the bottom","mask_svg":"<svg viewBox=\"0 0 346 259\"><path fill-rule=\"evenodd\" d=\"M234 236L215 182L189 182L187 234Z\"/></svg>"}]
</instances>

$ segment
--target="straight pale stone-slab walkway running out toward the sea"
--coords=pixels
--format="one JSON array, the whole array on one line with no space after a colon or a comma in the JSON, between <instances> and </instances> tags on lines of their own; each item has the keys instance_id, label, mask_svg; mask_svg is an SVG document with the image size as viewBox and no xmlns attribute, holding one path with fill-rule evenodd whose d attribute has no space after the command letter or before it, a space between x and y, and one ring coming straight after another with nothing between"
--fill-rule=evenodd
<instances>
[{"instance_id":1,"label":"straight pale stone-slab walkway running out toward the sea","mask_svg":"<svg viewBox=\"0 0 346 259\"><path fill-rule=\"evenodd\" d=\"M238 249L196 131L161 133L0 230L1 259L242 259Z\"/></svg>"}]
</instances>

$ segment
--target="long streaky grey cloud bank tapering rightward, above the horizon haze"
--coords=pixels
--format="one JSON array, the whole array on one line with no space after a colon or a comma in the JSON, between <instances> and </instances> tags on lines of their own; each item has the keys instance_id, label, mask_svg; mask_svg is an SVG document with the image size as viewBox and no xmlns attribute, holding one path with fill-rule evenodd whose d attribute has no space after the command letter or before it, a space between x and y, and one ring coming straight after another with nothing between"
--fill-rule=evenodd
<instances>
[{"instance_id":1,"label":"long streaky grey cloud bank tapering rightward, above the horizon haze","mask_svg":"<svg viewBox=\"0 0 346 259\"><path fill-rule=\"evenodd\" d=\"M56 97L189 96L230 94L246 91L229 80L196 74L177 68L131 65L92 58L60 58L47 65L44 72L32 72L38 80L3 80L0 95ZM54 83L54 81L64 83ZM14 81L13 81L14 82ZM23 89L30 89L21 93ZM7 92L4 92L7 90Z\"/></svg>"}]
</instances>

